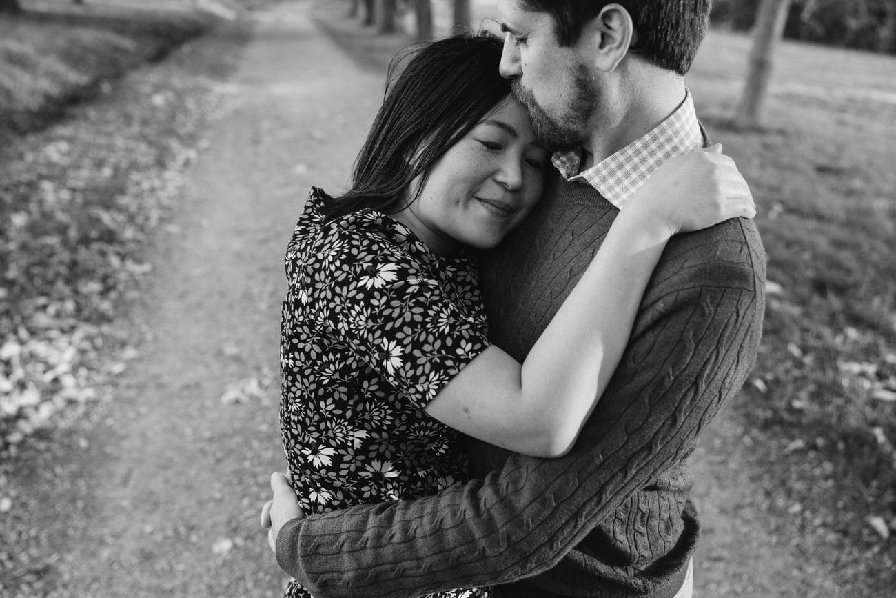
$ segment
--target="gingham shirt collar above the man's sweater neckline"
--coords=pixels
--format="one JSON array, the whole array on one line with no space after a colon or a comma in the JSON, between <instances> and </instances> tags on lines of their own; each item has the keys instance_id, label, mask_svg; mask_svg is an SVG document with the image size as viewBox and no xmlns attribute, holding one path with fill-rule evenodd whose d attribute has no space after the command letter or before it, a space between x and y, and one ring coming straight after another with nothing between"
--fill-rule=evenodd
<instances>
[{"instance_id":1,"label":"gingham shirt collar above the man's sweater neckline","mask_svg":"<svg viewBox=\"0 0 896 598\"><path fill-rule=\"evenodd\" d=\"M555 152L551 161L567 181L593 186L607 201L622 209L660 164L702 144L694 100L685 89L685 100L666 120L590 169L579 172L582 148Z\"/></svg>"}]
</instances>

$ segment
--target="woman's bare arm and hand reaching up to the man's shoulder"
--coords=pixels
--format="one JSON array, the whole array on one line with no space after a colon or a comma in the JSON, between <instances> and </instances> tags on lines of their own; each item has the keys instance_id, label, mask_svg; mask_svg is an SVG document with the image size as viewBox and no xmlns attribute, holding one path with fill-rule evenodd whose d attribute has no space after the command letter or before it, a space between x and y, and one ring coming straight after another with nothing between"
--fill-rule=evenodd
<instances>
[{"instance_id":1,"label":"woman's bare arm and hand reaching up to the man's shoulder","mask_svg":"<svg viewBox=\"0 0 896 598\"><path fill-rule=\"evenodd\" d=\"M730 159L708 150L670 160L616 217L526 360L520 364L489 347L436 394L426 412L517 453L564 455L618 365L668 239L754 214L753 198Z\"/></svg>"}]
</instances>

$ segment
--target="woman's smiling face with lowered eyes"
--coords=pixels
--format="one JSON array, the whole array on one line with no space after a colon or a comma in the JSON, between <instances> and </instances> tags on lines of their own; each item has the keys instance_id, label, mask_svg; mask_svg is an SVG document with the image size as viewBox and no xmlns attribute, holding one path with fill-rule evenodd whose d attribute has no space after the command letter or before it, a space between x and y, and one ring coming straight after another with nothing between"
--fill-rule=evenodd
<instances>
[{"instance_id":1,"label":"woman's smiling face with lowered eyes","mask_svg":"<svg viewBox=\"0 0 896 598\"><path fill-rule=\"evenodd\" d=\"M417 201L393 216L436 253L495 247L541 197L547 160L526 109L508 98L435 162Z\"/></svg>"}]
</instances>

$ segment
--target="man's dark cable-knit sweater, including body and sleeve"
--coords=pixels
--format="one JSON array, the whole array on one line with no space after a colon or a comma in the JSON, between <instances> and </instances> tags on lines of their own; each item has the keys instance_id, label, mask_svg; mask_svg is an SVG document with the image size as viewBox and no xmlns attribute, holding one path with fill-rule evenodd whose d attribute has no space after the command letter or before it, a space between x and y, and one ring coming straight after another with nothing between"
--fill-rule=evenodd
<instances>
[{"instance_id":1,"label":"man's dark cable-knit sweater, including body and sleeve","mask_svg":"<svg viewBox=\"0 0 896 598\"><path fill-rule=\"evenodd\" d=\"M536 212L483 260L497 346L525 356L617 213L590 186L554 178ZM672 238L623 360L568 455L477 443L471 458L484 477L288 522L280 566L317 598L513 582L502 595L675 595L699 533L685 459L754 364L764 282L753 221Z\"/></svg>"}]
</instances>

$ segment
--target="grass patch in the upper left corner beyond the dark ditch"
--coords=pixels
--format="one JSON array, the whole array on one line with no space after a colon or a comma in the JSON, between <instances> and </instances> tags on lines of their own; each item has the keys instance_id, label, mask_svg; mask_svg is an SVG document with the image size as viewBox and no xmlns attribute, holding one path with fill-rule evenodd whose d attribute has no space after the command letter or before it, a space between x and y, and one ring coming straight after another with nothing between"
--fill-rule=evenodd
<instances>
[{"instance_id":1,"label":"grass patch in the upper left corner beyond the dark ditch","mask_svg":"<svg viewBox=\"0 0 896 598\"><path fill-rule=\"evenodd\" d=\"M202 13L159 13L115 5L24 2L0 19L0 133L45 126L75 101L166 56L207 29ZM104 84L105 83L105 84Z\"/></svg>"}]
</instances>

